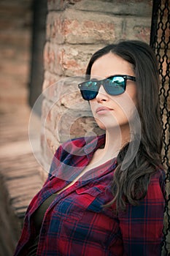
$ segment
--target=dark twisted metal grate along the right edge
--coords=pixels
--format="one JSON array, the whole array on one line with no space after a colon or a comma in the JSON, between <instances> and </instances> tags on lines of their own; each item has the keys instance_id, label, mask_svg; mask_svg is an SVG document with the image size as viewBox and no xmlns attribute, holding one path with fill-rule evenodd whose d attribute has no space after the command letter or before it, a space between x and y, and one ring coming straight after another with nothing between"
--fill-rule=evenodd
<instances>
[{"instance_id":1,"label":"dark twisted metal grate along the right edge","mask_svg":"<svg viewBox=\"0 0 170 256\"><path fill-rule=\"evenodd\" d=\"M170 3L153 0L150 45L159 62L161 78L160 101L163 121L163 166L166 170L166 206L162 256L170 255Z\"/></svg>"}]
</instances>

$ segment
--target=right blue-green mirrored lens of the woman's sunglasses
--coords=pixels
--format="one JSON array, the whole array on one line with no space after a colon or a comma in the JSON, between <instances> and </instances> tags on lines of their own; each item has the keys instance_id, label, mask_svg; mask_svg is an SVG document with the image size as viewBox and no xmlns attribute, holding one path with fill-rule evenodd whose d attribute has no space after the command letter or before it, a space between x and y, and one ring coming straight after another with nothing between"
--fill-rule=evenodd
<instances>
[{"instance_id":1,"label":"right blue-green mirrored lens of the woman's sunglasses","mask_svg":"<svg viewBox=\"0 0 170 256\"><path fill-rule=\"evenodd\" d=\"M125 79L123 77L117 76L113 78L107 78L104 81L107 93L110 95L123 94L125 91Z\"/></svg>"}]
</instances>

